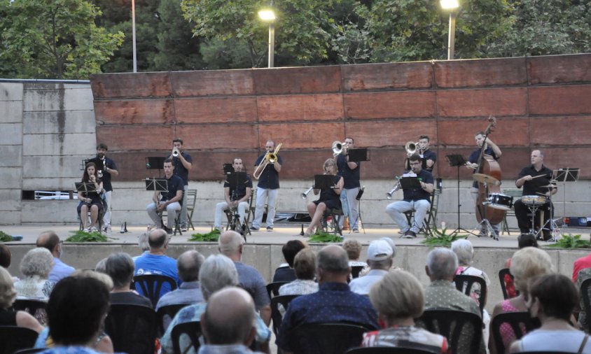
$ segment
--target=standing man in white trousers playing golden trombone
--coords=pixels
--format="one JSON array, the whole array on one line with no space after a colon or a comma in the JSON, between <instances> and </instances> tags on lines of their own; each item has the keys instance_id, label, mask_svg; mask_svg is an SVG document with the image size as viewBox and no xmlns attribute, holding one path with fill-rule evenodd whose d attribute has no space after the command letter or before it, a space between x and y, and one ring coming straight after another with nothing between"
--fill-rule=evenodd
<instances>
[{"instance_id":1,"label":"standing man in white trousers playing golden trombone","mask_svg":"<svg viewBox=\"0 0 591 354\"><path fill-rule=\"evenodd\" d=\"M266 152L260 155L254 162L258 166L267 153L273 153L275 150L275 142L267 141L265 144ZM263 172L258 178L256 185L256 207L254 210L254 220L252 221L251 230L258 231L260 223L263 221L263 213L265 211L265 201L267 201L267 231L273 231L273 222L275 219L275 207L277 206L277 193L279 192L279 172L281 172L281 165L283 159L277 155L277 161L269 162Z\"/></svg>"}]
</instances>

